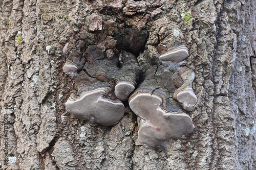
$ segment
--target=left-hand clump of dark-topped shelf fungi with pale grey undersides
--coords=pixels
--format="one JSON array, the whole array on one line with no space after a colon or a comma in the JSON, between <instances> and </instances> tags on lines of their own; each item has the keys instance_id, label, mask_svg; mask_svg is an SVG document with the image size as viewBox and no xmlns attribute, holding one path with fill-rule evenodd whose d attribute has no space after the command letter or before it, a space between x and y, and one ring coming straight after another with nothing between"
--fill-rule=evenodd
<instances>
[{"instance_id":1,"label":"left-hand clump of dark-topped shelf fungi with pale grey undersides","mask_svg":"<svg viewBox=\"0 0 256 170\"><path fill-rule=\"evenodd\" d=\"M84 52L86 38L84 33L79 36L80 51L69 54L69 44L63 47L63 54L68 56L63 72L76 77L75 92L65 103L66 110L79 119L111 126L123 117L122 101L135 89L141 70L136 57L125 51L108 58L100 48L90 45Z\"/></svg>"}]
</instances>

